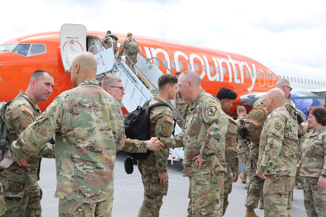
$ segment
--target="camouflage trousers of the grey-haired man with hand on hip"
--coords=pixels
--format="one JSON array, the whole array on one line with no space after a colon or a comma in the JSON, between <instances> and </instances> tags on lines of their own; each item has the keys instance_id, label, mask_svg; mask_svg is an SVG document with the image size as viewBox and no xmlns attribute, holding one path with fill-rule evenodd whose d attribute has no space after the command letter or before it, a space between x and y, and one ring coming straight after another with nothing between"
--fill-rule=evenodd
<instances>
[{"instance_id":1,"label":"camouflage trousers of the grey-haired man with hand on hip","mask_svg":"<svg viewBox=\"0 0 326 217\"><path fill-rule=\"evenodd\" d=\"M223 171L189 177L188 217L221 217L223 185Z\"/></svg>"}]
</instances>

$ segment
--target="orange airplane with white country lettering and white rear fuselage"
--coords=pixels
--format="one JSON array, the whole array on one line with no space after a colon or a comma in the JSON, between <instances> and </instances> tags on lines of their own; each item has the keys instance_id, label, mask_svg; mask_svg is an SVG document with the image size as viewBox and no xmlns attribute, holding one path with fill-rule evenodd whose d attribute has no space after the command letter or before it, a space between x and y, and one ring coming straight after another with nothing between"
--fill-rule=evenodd
<instances>
[{"instance_id":1,"label":"orange airplane with white country lettering and white rear fuselage","mask_svg":"<svg viewBox=\"0 0 326 217\"><path fill-rule=\"evenodd\" d=\"M65 24L66 25L66 24ZM74 25L73 25L74 26ZM63 63L67 50L72 52L99 52L99 42L105 32L77 30L82 25L61 32L37 33L11 39L0 46L0 101L9 101L20 90L26 90L31 74L46 70L54 77L53 93L46 102L38 105L44 110L61 92L72 87L69 61ZM78 35L79 34L79 35ZM72 36L72 37L69 37ZM126 35L119 37L118 47ZM216 95L221 87L238 94L230 114L240 105L252 108L253 98L258 98L275 86L279 78L286 78L293 88L292 96L316 96L326 93L325 70L279 61L254 60L244 55L226 51L172 42L145 36L133 36L147 58L157 57L163 64L152 60L163 73L195 70L201 77L206 92ZM61 45L60 45L61 43ZM96 46L92 46L96 45ZM90 47L92 48L90 49ZM90 50L89 50L90 49ZM168 70L168 69L169 70ZM323 105L317 99L293 100L297 108L306 111L310 106ZM236 115L234 115L236 116Z\"/></svg>"}]
</instances>

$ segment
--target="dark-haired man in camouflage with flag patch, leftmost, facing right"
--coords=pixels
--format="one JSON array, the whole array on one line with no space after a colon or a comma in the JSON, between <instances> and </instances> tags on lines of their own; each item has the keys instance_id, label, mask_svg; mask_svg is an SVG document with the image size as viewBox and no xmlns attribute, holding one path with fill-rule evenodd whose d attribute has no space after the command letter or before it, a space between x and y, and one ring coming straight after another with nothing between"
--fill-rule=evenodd
<instances>
[{"instance_id":1,"label":"dark-haired man in camouflage with flag patch, leftmost, facing right","mask_svg":"<svg viewBox=\"0 0 326 217\"><path fill-rule=\"evenodd\" d=\"M18 99L14 99L7 105L5 113L7 142L19 136L29 124L37 119L40 115L37 103L48 99L53 85L54 80L49 72L38 70L32 74L27 90L20 91L16 96ZM53 155L52 145L46 146L49 146L51 150L49 153L43 150L45 152L39 152L38 157L32 156L26 160L17 161L0 171L7 216L41 216L42 190L37 184L41 160L39 157Z\"/></svg>"}]
</instances>

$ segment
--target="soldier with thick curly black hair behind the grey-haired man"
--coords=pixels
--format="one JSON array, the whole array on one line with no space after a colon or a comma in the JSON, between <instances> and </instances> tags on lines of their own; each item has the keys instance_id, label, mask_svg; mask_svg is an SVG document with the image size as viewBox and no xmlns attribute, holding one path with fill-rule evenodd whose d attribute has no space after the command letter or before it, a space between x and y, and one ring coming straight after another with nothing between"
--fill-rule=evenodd
<instances>
[{"instance_id":1,"label":"soldier with thick curly black hair behind the grey-haired man","mask_svg":"<svg viewBox=\"0 0 326 217\"><path fill-rule=\"evenodd\" d=\"M237 98L237 94L231 91L229 88L222 87L217 95L217 99L221 103L222 110L227 113L234 100ZM223 199L223 212L222 215L225 214L225 211L229 205L229 194L232 191L232 182L238 181L238 170L239 170L239 152L237 146L237 124L229 115L226 115L228 118L228 131L225 134L225 159L227 165L227 171L224 175L224 199ZM232 176L229 171L231 168Z\"/></svg>"}]
</instances>

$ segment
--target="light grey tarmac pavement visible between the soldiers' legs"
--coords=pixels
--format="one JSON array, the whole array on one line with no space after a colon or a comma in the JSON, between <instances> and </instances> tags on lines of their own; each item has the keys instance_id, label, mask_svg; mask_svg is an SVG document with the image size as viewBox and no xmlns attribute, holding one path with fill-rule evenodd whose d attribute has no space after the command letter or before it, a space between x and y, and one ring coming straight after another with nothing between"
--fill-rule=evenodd
<instances>
[{"instance_id":1,"label":"light grey tarmac pavement visible between the soldiers' legs","mask_svg":"<svg viewBox=\"0 0 326 217\"><path fill-rule=\"evenodd\" d=\"M134 165L134 172L126 174L124 169L123 152L117 153L114 167L114 201L112 217L137 217L139 208L143 201L143 185L141 175L137 165ZM241 168L242 169L242 168ZM161 217L179 217L187 215L189 203L188 189L189 178L182 176L182 161L171 165L169 161L169 190L168 195L163 197L163 205L160 210ZM240 174L240 172L239 172ZM247 184L249 181L247 181ZM54 198L56 188L55 160L42 159L40 181L38 181L43 190L41 200L42 216L58 216L58 201ZM232 192L229 195L229 206L225 217L245 216L244 201L247 190L244 189L241 179L233 183ZM294 217L307 216L303 203L303 190L294 189L294 200L292 202L292 211ZM264 210L255 209L259 216L264 216Z\"/></svg>"}]
</instances>

